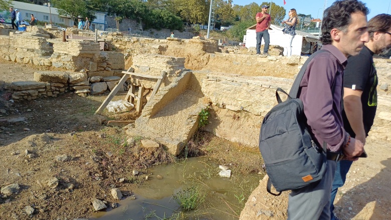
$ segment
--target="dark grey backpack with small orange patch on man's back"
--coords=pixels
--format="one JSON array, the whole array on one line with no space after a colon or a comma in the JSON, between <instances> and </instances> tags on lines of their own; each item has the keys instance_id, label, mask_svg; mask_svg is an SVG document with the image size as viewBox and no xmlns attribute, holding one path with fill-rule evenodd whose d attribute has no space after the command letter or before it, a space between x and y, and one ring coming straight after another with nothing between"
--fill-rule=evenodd
<instances>
[{"instance_id":1,"label":"dark grey backpack with small orange patch on man's back","mask_svg":"<svg viewBox=\"0 0 391 220\"><path fill-rule=\"evenodd\" d=\"M318 53L329 52L321 50ZM259 150L269 176L267 191L273 195L318 182L326 171L326 152L312 140L307 129L303 102L298 98L301 80L313 57L314 54L300 69L289 95L281 88L277 89L278 104L266 114L262 122ZM286 94L287 100L283 102L278 92ZM277 194L271 192L272 184Z\"/></svg>"}]
</instances>

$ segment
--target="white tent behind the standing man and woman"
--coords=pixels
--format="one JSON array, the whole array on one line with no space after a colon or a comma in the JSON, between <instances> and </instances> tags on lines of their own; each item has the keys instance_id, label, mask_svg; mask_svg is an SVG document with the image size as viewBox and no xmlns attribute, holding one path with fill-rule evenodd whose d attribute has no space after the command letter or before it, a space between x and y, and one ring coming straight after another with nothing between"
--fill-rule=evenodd
<instances>
[{"instance_id":1,"label":"white tent behind the standing man and woman","mask_svg":"<svg viewBox=\"0 0 391 220\"><path fill-rule=\"evenodd\" d=\"M246 30L246 35L243 38L245 46L247 48L256 47L257 39L255 33L256 25L251 26ZM284 28L277 25L270 25L269 35L270 35L270 45L278 45L284 48L284 56L286 56L288 40L287 36L282 32ZM309 33L296 31L296 35L292 41L292 55L300 55L301 52L309 54L311 53L311 44L310 43L320 43L319 38L311 35ZM264 39L262 38L262 45L265 44ZM262 52L262 51L261 51Z\"/></svg>"}]
</instances>

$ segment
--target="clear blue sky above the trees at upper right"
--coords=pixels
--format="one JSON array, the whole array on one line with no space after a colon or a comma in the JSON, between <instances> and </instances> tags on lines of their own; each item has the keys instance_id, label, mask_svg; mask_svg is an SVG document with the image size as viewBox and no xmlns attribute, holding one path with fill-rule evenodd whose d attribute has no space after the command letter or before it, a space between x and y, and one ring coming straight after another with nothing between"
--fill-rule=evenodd
<instances>
[{"instance_id":1,"label":"clear blue sky above the trees at upper right","mask_svg":"<svg viewBox=\"0 0 391 220\"><path fill-rule=\"evenodd\" d=\"M382 14L382 13L391 14L391 6L388 9L390 1L391 0L361 0L361 2L365 3L366 7L369 9L368 20L378 14ZM270 0L269 1L268 0L265 1L234 0L234 4L242 5L242 6L248 5L253 2L259 5L262 2L270 2ZM273 2L279 6L284 7L287 10L286 18L288 18L288 11L290 9L296 9L297 13L312 15L313 18L316 18L317 15L319 18L322 17L321 14L323 12L324 0L285 0L286 2L285 6L284 6L284 0L273 0ZM328 0L327 7L331 6L333 2L335 1Z\"/></svg>"}]
</instances>

